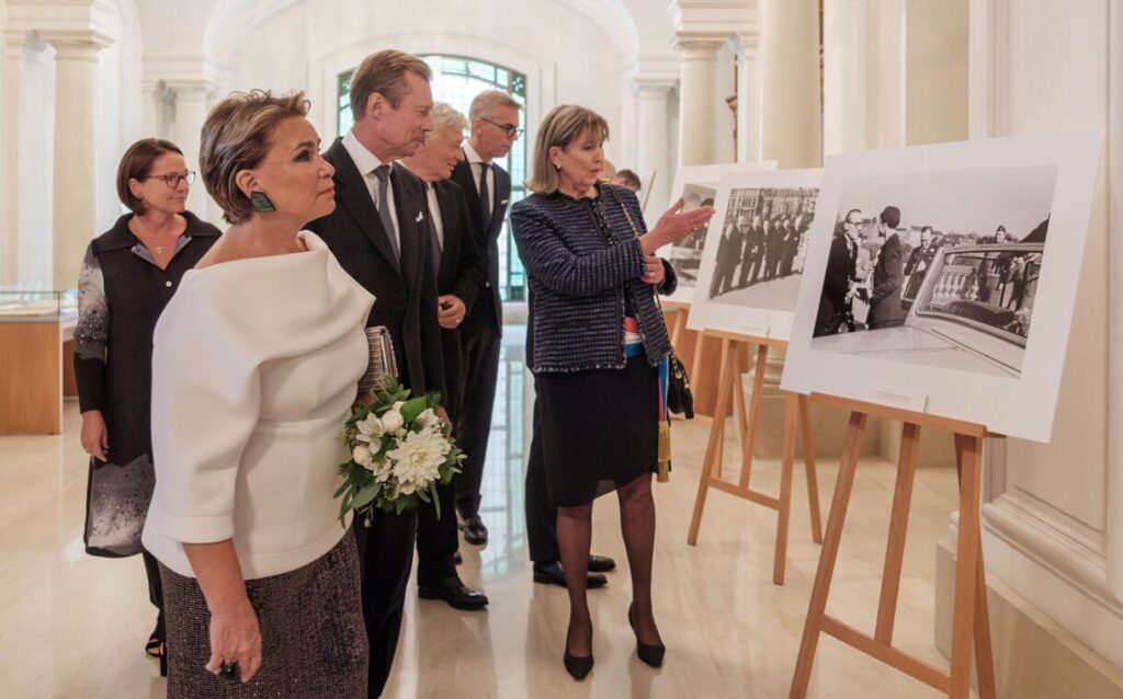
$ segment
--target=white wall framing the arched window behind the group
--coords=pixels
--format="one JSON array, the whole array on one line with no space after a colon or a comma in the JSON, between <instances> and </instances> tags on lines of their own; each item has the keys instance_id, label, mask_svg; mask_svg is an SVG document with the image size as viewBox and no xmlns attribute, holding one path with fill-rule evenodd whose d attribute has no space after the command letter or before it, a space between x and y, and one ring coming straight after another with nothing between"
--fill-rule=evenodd
<instances>
[{"instance_id":1,"label":"white wall framing the arched window behind the group","mask_svg":"<svg viewBox=\"0 0 1123 699\"><path fill-rule=\"evenodd\" d=\"M526 73L531 137L546 111L566 102L596 110L620 134L622 76L636 56L621 53L620 37L576 4L528 0L512 11L506 0L451 0L387 13L365 0L294 2L223 37L222 50L236 66L235 89L304 89L326 140L336 132L336 75L389 47L471 55ZM621 142L609 142L610 159L619 160Z\"/></svg>"}]
</instances>

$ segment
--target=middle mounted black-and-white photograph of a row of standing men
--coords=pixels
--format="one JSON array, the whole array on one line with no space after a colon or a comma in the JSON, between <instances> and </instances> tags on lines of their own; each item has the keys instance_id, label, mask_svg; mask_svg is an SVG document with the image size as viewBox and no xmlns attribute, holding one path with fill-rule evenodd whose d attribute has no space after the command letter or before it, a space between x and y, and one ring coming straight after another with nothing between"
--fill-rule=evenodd
<instances>
[{"instance_id":1,"label":"middle mounted black-and-white photograph of a row of standing men","mask_svg":"<svg viewBox=\"0 0 1123 699\"><path fill-rule=\"evenodd\" d=\"M787 339L820 169L722 176L687 328Z\"/></svg>"}]
</instances>

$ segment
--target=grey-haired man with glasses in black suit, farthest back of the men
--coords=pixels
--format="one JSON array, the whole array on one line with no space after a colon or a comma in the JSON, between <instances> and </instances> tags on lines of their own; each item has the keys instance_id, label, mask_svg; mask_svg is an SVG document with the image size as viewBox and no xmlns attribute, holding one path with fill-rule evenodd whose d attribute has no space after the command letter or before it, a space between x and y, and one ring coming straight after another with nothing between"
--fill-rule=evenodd
<instances>
[{"instance_id":1,"label":"grey-haired man with glasses in black suit, farthest back of the men","mask_svg":"<svg viewBox=\"0 0 1123 699\"><path fill-rule=\"evenodd\" d=\"M473 241L486 276L460 328L465 401L456 433L466 458L456 480L456 509L464 519L464 541L481 545L487 543L487 527L480 517L480 486L487 458L503 334L499 236L511 197L511 176L493 160L506 156L522 129L519 103L497 90L482 92L472 100L468 120L472 136L464 145L465 159L453 168L453 181L468 200Z\"/></svg>"}]
</instances>

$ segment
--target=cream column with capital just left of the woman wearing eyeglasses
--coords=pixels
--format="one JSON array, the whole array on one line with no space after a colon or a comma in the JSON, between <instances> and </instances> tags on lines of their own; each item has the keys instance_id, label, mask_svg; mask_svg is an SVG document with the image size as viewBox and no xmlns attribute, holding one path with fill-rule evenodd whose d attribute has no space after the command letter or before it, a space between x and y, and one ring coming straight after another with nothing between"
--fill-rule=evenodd
<instances>
[{"instance_id":1,"label":"cream column with capital just left of the woman wearing eyeglasses","mask_svg":"<svg viewBox=\"0 0 1123 699\"><path fill-rule=\"evenodd\" d=\"M44 38L55 47L53 284L70 288L77 284L85 248L98 232L97 64L98 50L109 42L94 33Z\"/></svg>"}]
</instances>

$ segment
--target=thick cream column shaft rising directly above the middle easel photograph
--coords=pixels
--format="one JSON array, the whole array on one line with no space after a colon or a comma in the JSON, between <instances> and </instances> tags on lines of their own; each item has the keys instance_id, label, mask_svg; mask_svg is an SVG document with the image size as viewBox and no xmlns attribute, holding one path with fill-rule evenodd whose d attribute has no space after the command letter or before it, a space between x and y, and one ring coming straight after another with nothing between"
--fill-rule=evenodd
<instances>
[{"instance_id":1,"label":"thick cream column shaft rising directly above the middle easel photograph","mask_svg":"<svg viewBox=\"0 0 1123 699\"><path fill-rule=\"evenodd\" d=\"M779 167L822 162L819 7L815 0L760 0L763 159Z\"/></svg>"}]
</instances>

